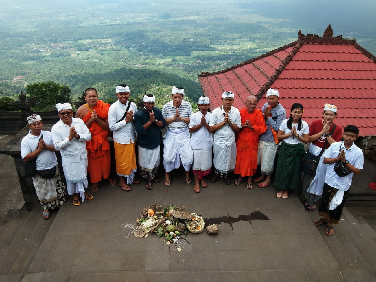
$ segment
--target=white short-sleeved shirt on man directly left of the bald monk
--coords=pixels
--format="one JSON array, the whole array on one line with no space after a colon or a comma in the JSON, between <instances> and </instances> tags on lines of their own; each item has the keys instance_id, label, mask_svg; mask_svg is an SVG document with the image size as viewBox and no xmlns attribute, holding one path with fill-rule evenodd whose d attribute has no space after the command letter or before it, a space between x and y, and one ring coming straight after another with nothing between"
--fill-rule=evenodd
<instances>
[{"instance_id":1,"label":"white short-sleeved shirt on man directly left of the bald monk","mask_svg":"<svg viewBox=\"0 0 376 282\"><path fill-rule=\"evenodd\" d=\"M214 126L215 124L224 121L225 114L226 112L223 110L223 106L214 109L210 118L210 126ZM241 127L240 112L237 108L231 106L229 118L233 124ZM219 147L225 148L231 146L234 142L235 132L228 123L218 129L214 134L214 144L218 145Z\"/></svg>"}]
</instances>

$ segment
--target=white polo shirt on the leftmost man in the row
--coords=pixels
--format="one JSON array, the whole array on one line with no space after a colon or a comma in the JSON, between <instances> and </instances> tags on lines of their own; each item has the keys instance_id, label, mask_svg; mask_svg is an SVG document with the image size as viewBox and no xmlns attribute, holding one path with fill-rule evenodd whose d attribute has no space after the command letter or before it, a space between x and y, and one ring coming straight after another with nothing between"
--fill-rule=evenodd
<instances>
[{"instance_id":1,"label":"white polo shirt on the leftmost man in the row","mask_svg":"<svg viewBox=\"0 0 376 282\"><path fill-rule=\"evenodd\" d=\"M52 133L49 131L41 130L41 134L43 134L43 141L46 145L53 145L52 143ZM40 136L40 135L39 135ZM25 158L27 154L34 152L38 148L39 143L39 136L35 136L31 134L31 130L29 134L27 134L21 141L21 158ZM35 168L37 170L47 170L49 168L53 168L58 163L56 159L55 152L49 151L47 149L43 149L42 152L36 157Z\"/></svg>"}]
</instances>

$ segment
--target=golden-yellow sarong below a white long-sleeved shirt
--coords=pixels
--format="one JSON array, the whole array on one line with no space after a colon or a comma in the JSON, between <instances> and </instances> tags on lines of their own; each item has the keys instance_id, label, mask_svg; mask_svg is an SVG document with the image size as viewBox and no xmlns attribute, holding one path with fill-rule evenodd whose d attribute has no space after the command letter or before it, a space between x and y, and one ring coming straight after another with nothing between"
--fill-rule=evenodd
<instances>
[{"instance_id":1,"label":"golden-yellow sarong below a white long-sleeved shirt","mask_svg":"<svg viewBox=\"0 0 376 282\"><path fill-rule=\"evenodd\" d=\"M120 144L114 141L116 173L131 175L136 169L136 147L135 143Z\"/></svg>"}]
</instances>

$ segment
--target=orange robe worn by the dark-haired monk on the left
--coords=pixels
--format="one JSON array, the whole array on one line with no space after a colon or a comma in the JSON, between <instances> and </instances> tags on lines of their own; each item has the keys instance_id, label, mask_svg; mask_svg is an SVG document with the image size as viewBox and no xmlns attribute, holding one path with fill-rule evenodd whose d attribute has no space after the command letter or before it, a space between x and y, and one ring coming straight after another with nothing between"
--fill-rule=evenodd
<instances>
[{"instance_id":1,"label":"orange robe worn by the dark-haired monk on the left","mask_svg":"<svg viewBox=\"0 0 376 282\"><path fill-rule=\"evenodd\" d=\"M98 100L97 106L92 108L102 120L108 120L108 109L110 104ZM91 117L91 112L83 117L86 123ZM88 151L88 173L90 182L96 183L109 177L111 173L111 152L108 141L108 130L103 129L97 122L93 122L89 127L91 140L86 141L86 150Z\"/></svg>"}]
</instances>

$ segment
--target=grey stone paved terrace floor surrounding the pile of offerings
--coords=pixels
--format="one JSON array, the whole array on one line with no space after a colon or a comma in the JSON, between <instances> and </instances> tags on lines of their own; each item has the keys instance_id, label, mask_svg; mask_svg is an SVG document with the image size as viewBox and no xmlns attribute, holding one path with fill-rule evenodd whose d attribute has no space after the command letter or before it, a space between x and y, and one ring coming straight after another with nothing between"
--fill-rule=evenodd
<instances>
[{"instance_id":1,"label":"grey stone paved terrace floor surrounding the pile of offerings","mask_svg":"<svg viewBox=\"0 0 376 282\"><path fill-rule=\"evenodd\" d=\"M93 200L74 206L70 198L48 221L34 211L37 206L30 213L35 229L49 230L26 274L1 280L376 281L376 232L347 208L335 234L327 237L324 226L312 223L317 212L306 212L295 194L284 200L275 197L273 186L246 190L245 182L236 187L222 180L208 185L194 193L193 184L176 170L170 187L153 183L150 191L144 182L129 193L102 182ZM191 244L180 240L178 252L155 234L133 235L139 213L158 200L185 205L204 218L257 211L268 219L237 221L232 227L221 223L217 235L189 233ZM35 247L35 240L29 239L27 247Z\"/></svg>"}]
</instances>

